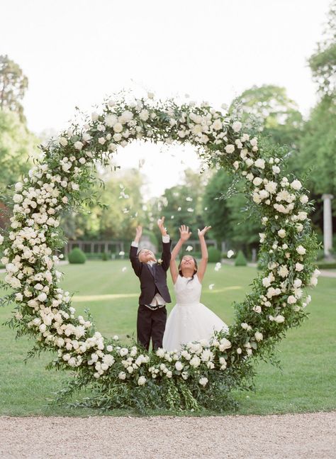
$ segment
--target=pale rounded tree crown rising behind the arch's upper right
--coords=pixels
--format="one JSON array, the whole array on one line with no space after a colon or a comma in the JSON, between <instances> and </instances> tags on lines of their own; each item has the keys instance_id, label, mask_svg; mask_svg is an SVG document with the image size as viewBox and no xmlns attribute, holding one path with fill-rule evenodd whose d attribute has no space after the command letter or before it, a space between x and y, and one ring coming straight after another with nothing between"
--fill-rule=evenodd
<instances>
[{"instance_id":1,"label":"pale rounded tree crown rising behind the arch's upper right","mask_svg":"<svg viewBox=\"0 0 336 459\"><path fill-rule=\"evenodd\" d=\"M269 136L280 145L296 148L303 118L284 87L272 84L253 86L233 100L229 112L232 113L237 106L242 109L243 121L250 121L252 116L259 123L263 136Z\"/></svg>"}]
</instances>

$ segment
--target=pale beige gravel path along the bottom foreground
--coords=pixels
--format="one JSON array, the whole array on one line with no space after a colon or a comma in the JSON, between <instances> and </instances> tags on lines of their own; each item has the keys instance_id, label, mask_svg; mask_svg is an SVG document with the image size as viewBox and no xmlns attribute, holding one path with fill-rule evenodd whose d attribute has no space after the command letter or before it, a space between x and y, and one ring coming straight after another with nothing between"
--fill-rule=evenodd
<instances>
[{"instance_id":1,"label":"pale beige gravel path along the bottom foreground","mask_svg":"<svg viewBox=\"0 0 336 459\"><path fill-rule=\"evenodd\" d=\"M270 416L0 417L0 457L331 459L336 411Z\"/></svg>"}]
</instances>

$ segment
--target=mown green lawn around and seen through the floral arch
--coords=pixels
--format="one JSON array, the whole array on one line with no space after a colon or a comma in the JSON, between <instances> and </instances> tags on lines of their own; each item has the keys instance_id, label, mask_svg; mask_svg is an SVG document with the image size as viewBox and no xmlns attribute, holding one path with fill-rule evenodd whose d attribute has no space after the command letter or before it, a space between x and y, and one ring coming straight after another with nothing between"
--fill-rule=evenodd
<instances>
[{"instance_id":1,"label":"mown green lawn around and seen through the floral arch","mask_svg":"<svg viewBox=\"0 0 336 459\"><path fill-rule=\"evenodd\" d=\"M230 323L233 320L231 303L244 298L257 271L228 265L223 265L219 272L213 268L214 265L208 266L201 302ZM84 312L89 307L103 335L118 334L123 339L126 334L135 333L139 285L128 260L91 261L85 265L63 266L61 270L65 272L62 287L74 292L77 311ZM208 289L209 284L215 284L213 290ZM169 289L173 292L170 278ZM311 293L310 318L301 328L290 331L279 345L283 372L260 363L257 392L235 394L240 402L239 414L336 409L336 279L320 277L318 287ZM10 314L10 308L0 310L1 324ZM1 415L94 414L89 409L48 407L47 399L60 389L67 375L45 370L51 355L42 355L25 365L23 358L33 343L26 338L16 341L13 331L3 325L0 340ZM113 415L130 413L111 412Z\"/></svg>"}]
</instances>

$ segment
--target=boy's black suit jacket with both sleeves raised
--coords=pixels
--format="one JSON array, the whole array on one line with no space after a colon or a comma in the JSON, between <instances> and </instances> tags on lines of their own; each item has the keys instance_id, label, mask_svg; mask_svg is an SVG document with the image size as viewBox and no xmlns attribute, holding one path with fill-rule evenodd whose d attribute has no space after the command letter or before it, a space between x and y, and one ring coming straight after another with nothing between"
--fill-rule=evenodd
<instances>
[{"instance_id":1,"label":"boy's black suit jacket with both sleeves raised","mask_svg":"<svg viewBox=\"0 0 336 459\"><path fill-rule=\"evenodd\" d=\"M140 279L141 294L139 304L150 304L157 291L165 302L172 302L167 287L167 270L169 269L172 257L170 253L171 245L172 240L169 240L167 243L162 242L162 263L153 264L152 270L147 263L139 261L137 255L138 248L133 247L133 245L130 246L130 262L132 263L135 274Z\"/></svg>"}]
</instances>

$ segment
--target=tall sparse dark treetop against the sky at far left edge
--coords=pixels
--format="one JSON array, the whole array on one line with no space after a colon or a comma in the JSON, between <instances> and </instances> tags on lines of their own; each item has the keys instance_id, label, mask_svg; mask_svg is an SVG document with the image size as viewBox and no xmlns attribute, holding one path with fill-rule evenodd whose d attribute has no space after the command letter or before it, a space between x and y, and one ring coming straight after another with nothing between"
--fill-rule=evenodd
<instances>
[{"instance_id":1,"label":"tall sparse dark treetop against the sky at far left edge","mask_svg":"<svg viewBox=\"0 0 336 459\"><path fill-rule=\"evenodd\" d=\"M28 78L23 74L21 67L9 59L7 55L0 55L0 109L15 111L21 121L25 122L21 100L28 88Z\"/></svg>"}]
</instances>

